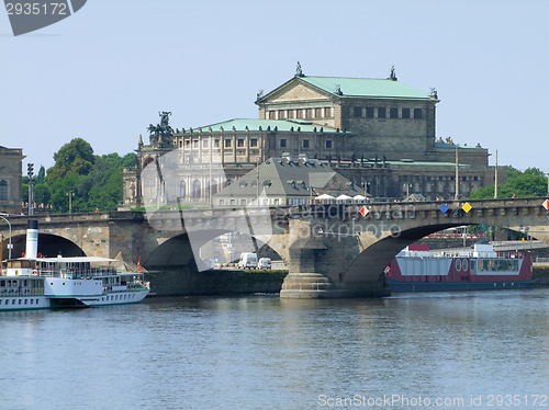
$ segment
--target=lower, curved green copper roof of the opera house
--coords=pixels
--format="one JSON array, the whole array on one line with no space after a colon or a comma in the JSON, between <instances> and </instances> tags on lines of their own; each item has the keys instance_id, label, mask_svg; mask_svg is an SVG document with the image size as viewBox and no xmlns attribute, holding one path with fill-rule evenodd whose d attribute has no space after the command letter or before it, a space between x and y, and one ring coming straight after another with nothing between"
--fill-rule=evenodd
<instances>
[{"instance_id":1,"label":"lower, curved green copper roof of the opera house","mask_svg":"<svg viewBox=\"0 0 549 410\"><path fill-rule=\"evenodd\" d=\"M277 130L280 132L291 132L292 127L294 132L298 132L298 127L300 128L301 133L314 133L314 132L320 132L321 126L317 124L313 124L311 122L306 122L303 119L257 119L257 118L234 118L234 119L228 119L224 121L222 123L215 123L211 125L204 125L199 128L193 128L193 133L200 133L201 130L203 133L209 133L210 128L212 133L219 133L221 128L223 127L224 132L232 132L233 127L237 132L243 132L246 130L254 130L257 132L259 130L259 127L261 127L261 130L267 130L267 128L270 127L270 130L274 130L274 127ZM316 128L316 130L315 130ZM322 127L324 133L337 133L336 128L330 128L330 127ZM179 134L188 134L190 133L190 129L184 129L183 132Z\"/></svg>"}]
</instances>

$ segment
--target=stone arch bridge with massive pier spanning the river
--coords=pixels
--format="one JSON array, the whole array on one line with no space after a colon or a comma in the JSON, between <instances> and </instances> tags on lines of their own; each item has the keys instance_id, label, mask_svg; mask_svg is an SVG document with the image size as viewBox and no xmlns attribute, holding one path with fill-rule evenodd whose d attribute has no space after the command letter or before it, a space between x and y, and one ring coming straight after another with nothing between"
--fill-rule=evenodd
<instances>
[{"instance_id":1,"label":"stone arch bridge with massive pier spanning the river","mask_svg":"<svg viewBox=\"0 0 549 410\"><path fill-rule=\"evenodd\" d=\"M485 224L528 232L549 243L545 200L469 201L469 212L464 202L456 201L445 203L446 212L440 202L415 202L369 204L362 213L362 205L314 205L157 212L149 217L113 212L32 218L38 220L38 251L44 255L116 258L134 266L141 259L145 267L157 270L195 270L198 248L224 232L243 231L288 264L281 297L365 297L386 293L383 269L402 248L442 229ZM9 217L13 257L24 251L29 218ZM0 223L0 232L5 259L5 221Z\"/></svg>"}]
</instances>

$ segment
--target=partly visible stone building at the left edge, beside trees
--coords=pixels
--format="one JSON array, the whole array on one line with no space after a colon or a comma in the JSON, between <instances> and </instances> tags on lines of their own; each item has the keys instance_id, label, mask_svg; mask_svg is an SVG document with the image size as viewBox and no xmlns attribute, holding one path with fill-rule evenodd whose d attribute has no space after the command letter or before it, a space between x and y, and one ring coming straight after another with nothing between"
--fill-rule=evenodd
<instances>
[{"instance_id":1,"label":"partly visible stone building at the left edge, beside trees","mask_svg":"<svg viewBox=\"0 0 549 410\"><path fill-rule=\"evenodd\" d=\"M21 214L23 150L0 146L0 212Z\"/></svg>"}]
</instances>

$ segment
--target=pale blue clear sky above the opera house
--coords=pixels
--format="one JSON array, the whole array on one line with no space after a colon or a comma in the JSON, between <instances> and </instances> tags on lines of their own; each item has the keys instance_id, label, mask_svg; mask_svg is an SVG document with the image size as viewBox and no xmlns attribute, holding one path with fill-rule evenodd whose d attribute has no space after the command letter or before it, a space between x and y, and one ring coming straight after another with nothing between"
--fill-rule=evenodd
<instances>
[{"instance_id":1,"label":"pale blue clear sky above the opera house","mask_svg":"<svg viewBox=\"0 0 549 410\"><path fill-rule=\"evenodd\" d=\"M257 118L259 90L295 73L386 78L438 92L437 139L490 163L549 171L549 1L88 0L13 36L0 13L0 145L49 168L83 138L96 155L148 144L147 126Z\"/></svg>"}]
</instances>

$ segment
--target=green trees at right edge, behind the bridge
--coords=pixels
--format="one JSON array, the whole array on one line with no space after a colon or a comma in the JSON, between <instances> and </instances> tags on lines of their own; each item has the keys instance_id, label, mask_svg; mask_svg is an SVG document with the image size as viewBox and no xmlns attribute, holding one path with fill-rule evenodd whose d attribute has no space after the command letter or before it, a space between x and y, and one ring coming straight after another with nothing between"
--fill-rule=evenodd
<instances>
[{"instance_id":1,"label":"green trees at right edge, behind the bridge","mask_svg":"<svg viewBox=\"0 0 549 410\"><path fill-rule=\"evenodd\" d=\"M509 168L507 182L497 185L497 197L530 197L545 196L547 194L547 178L537 168L528 168L524 172ZM482 187L473 192L471 200L489 200L494 197L494 186Z\"/></svg>"}]
</instances>

